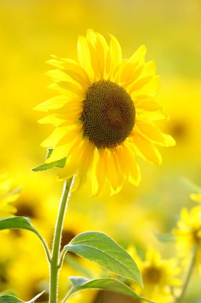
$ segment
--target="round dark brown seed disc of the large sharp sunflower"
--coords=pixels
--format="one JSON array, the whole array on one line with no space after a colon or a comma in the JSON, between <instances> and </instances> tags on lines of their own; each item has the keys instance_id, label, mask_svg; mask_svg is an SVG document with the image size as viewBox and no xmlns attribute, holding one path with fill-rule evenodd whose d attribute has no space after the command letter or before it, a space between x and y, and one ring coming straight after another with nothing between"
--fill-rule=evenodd
<instances>
[{"instance_id":1,"label":"round dark brown seed disc of the large sharp sunflower","mask_svg":"<svg viewBox=\"0 0 201 303\"><path fill-rule=\"evenodd\" d=\"M123 87L103 80L88 88L81 120L85 135L97 147L121 144L133 129L135 117L132 98Z\"/></svg>"}]
</instances>

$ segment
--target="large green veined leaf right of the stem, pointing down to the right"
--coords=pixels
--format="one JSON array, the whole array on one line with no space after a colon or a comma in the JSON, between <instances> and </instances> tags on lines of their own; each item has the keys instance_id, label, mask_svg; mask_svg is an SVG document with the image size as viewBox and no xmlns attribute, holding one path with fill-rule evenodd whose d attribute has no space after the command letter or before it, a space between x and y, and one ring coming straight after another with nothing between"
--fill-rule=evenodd
<instances>
[{"instance_id":1,"label":"large green veined leaf right of the stem, pointing down to the right","mask_svg":"<svg viewBox=\"0 0 201 303\"><path fill-rule=\"evenodd\" d=\"M136 262L125 249L102 232L81 233L64 248L97 263L110 272L143 285L142 275Z\"/></svg>"}]
</instances>

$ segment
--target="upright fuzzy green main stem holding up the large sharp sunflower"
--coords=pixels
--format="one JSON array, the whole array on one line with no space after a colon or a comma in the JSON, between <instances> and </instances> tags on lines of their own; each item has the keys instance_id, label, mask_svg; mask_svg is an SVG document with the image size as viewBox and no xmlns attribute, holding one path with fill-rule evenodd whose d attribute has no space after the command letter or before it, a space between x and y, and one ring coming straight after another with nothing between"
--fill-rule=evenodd
<instances>
[{"instance_id":1,"label":"upright fuzzy green main stem holding up the large sharp sunflower","mask_svg":"<svg viewBox=\"0 0 201 303\"><path fill-rule=\"evenodd\" d=\"M52 258L50 263L50 285L49 285L49 303L57 303L57 284L58 284L58 259L60 255L61 232L65 216L66 205L70 197L69 191L73 178L67 180L64 184L63 193L60 201L57 221L55 225Z\"/></svg>"}]
</instances>

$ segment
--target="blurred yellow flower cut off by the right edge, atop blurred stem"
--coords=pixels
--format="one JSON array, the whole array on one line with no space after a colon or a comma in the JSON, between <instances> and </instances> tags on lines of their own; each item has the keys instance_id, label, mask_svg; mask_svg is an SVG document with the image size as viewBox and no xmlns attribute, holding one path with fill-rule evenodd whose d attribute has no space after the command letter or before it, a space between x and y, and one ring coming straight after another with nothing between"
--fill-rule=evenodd
<instances>
[{"instance_id":1,"label":"blurred yellow flower cut off by the right edge, atop blurred stem","mask_svg":"<svg viewBox=\"0 0 201 303\"><path fill-rule=\"evenodd\" d=\"M179 255L190 257L190 251L196 245L196 261L201 265L201 207L194 207L190 211L183 208L180 217L178 228L172 230L176 235Z\"/></svg>"}]
</instances>

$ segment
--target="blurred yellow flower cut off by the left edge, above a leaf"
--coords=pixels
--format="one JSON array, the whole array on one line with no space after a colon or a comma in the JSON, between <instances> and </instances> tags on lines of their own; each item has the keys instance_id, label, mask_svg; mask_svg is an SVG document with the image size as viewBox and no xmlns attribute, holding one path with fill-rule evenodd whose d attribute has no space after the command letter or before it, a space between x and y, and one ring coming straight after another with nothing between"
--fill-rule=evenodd
<instances>
[{"instance_id":1,"label":"blurred yellow flower cut off by the left edge, above a leaf","mask_svg":"<svg viewBox=\"0 0 201 303\"><path fill-rule=\"evenodd\" d=\"M11 217L17 209L12 203L18 198L19 193L12 188L12 180L8 174L0 175L0 219Z\"/></svg>"}]
</instances>

